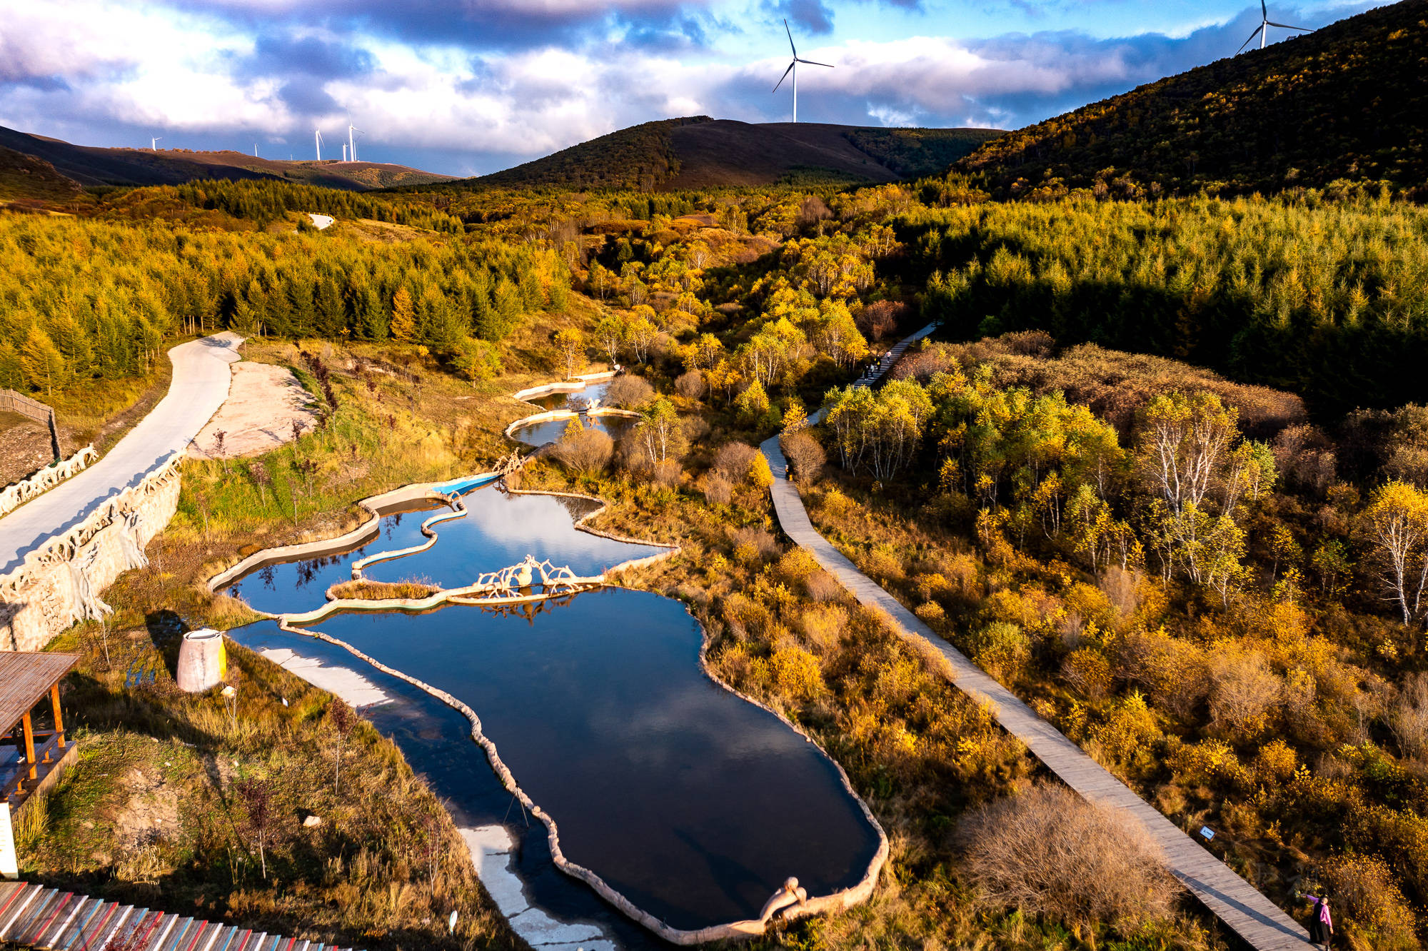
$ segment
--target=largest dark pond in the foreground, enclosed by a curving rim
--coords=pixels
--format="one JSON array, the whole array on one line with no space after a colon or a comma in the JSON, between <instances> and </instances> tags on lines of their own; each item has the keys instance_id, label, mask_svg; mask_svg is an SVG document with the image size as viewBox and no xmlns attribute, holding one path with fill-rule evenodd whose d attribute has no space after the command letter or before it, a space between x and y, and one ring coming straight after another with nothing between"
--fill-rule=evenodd
<instances>
[{"instance_id":1,"label":"largest dark pond in the foreground, enclosed by a curving rim","mask_svg":"<svg viewBox=\"0 0 1428 951\"><path fill-rule=\"evenodd\" d=\"M466 701L567 857L677 928L751 918L788 875L810 894L861 878L877 834L837 767L704 675L677 601L607 588L547 607L314 627ZM420 737L398 743L421 761Z\"/></svg>"}]
</instances>

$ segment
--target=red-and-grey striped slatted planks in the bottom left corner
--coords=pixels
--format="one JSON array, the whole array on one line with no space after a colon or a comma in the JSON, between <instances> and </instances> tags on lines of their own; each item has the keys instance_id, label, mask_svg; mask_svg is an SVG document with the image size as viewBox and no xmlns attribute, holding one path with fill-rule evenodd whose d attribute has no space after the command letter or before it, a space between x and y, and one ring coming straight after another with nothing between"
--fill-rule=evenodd
<instances>
[{"instance_id":1,"label":"red-and-grey striped slatted planks in the bottom left corner","mask_svg":"<svg viewBox=\"0 0 1428 951\"><path fill-rule=\"evenodd\" d=\"M64 951L338 951L240 925L134 908L23 881L0 881L0 942Z\"/></svg>"}]
</instances>

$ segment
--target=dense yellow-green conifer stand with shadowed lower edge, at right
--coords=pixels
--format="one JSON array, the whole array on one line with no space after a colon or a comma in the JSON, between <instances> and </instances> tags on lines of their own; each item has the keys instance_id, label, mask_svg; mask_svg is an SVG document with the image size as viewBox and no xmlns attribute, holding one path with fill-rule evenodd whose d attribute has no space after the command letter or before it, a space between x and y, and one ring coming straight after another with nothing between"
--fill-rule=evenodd
<instances>
[{"instance_id":1,"label":"dense yellow-green conifer stand with shadowed lower edge, at right","mask_svg":"<svg viewBox=\"0 0 1428 951\"><path fill-rule=\"evenodd\" d=\"M958 338L1038 328L1301 393L1422 397L1428 210L1377 197L1007 203L900 220Z\"/></svg>"}]
</instances>

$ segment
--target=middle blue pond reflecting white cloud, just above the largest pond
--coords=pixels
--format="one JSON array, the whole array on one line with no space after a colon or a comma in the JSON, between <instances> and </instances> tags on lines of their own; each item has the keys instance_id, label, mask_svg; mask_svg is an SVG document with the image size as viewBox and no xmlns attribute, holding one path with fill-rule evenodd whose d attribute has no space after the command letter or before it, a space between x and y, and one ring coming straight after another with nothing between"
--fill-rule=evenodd
<instances>
[{"instance_id":1,"label":"middle blue pond reflecting white cloud, just above the largest pond","mask_svg":"<svg viewBox=\"0 0 1428 951\"><path fill-rule=\"evenodd\" d=\"M496 487L474 490L461 497L467 514L433 525L437 541L418 551L391 561L377 561L363 568L373 581L421 580L441 587L461 587L476 581L483 571L496 571L516 564L527 554L537 560L550 558L555 565L568 565L578 575L600 574L605 568L643 558L663 548L631 545L580 531L574 518L597 507L597 503L561 498L557 495L513 495ZM383 515L378 538L353 551L286 561L257 568L231 585L238 597L258 611L308 611L321 607L327 588L351 580L351 563L380 554L400 551L426 541L421 523L447 511L431 507Z\"/></svg>"}]
</instances>

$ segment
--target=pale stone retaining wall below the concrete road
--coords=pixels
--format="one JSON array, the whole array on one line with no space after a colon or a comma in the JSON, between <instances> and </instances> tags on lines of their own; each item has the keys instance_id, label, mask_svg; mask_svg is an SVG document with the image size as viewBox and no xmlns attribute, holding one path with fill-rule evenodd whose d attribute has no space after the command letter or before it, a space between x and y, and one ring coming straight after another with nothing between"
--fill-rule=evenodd
<instances>
[{"instance_id":1,"label":"pale stone retaining wall below the concrete road","mask_svg":"<svg viewBox=\"0 0 1428 951\"><path fill-rule=\"evenodd\" d=\"M0 650L37 651L76 621L111 608L99 593L149 564L144 547L178 508L181 453L126 488L0 575Z\"/></svg>"}]
</instances>

